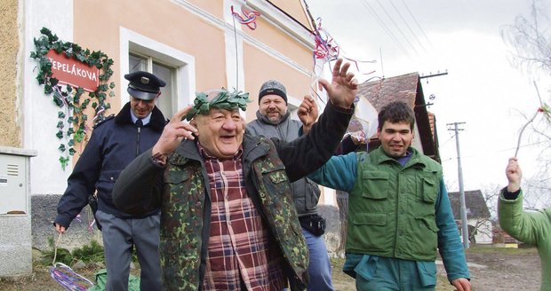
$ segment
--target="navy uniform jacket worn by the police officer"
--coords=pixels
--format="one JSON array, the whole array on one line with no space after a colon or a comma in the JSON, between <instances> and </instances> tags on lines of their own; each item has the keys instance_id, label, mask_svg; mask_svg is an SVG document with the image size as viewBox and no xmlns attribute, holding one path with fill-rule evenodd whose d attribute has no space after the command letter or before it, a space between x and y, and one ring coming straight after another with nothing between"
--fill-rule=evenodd
<instances>
[{"instance_id":1,"label":"navy uniform jacket worn by the police officer","mask_svg":"<svg viewBox=\"0 0 551 291\"><path fill-rule=\"evenodd\" d=\"M89 197L98 191L98 209L121 218L145 217L158 213L150 209L139 216L118 210L111 191L120 172L140 153L156 144L166 120L157 107L147 125L139 129L132 123L130 102L116 117L109 116L95 126L92 137L68 177L68 187L58 203L55 223L68 228L71 221L88 204Z\"/></svg>"}]
</instances>

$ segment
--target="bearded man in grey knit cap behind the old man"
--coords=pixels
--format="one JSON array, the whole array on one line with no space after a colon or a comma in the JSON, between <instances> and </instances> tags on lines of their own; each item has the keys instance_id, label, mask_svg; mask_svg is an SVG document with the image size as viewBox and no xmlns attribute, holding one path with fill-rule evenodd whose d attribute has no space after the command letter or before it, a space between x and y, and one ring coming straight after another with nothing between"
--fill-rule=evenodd
<instances>
[{"instance_id":1,"label":"bearded man in grey knit cap behind the old man","mask_svg":"<svg viewBox=\"0 0 551 291\"><path fill-rule=\"evenodd\" d=\"M291 142L307 134L317 119L318 109L314 98L305 96L300 106L307 109L307 114L299 114L300 122L289 118L287 90L282 83L269 80L260 87L257 119L249 122L246 130L253 136L279 138ZM333 290L331 263L322 237L325 220L317 214L320 190L314 182L305 177L292 183L291 191L310 255L308 290Z\"/></svg>"}]
</instances>

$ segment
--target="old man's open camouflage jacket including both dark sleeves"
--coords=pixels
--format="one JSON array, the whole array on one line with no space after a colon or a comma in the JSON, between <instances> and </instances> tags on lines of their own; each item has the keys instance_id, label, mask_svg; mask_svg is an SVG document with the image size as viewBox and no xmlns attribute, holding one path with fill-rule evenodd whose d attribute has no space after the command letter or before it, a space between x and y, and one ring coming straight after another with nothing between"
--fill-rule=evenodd
<instances>
[{"instance_id":1,"label":"old man's open camouflage jacket including both dark sleeves","mask_svg":"<svg viewBox=\"0 0 551 291\"><path fill-rule=\"evenodd\" d=\"M329 160L351 113L328 105L310 133L291 143L244 136L244 185L273 237L273 249L283 257L291 290L305 287L308 260L290 183ZM162 208L159 251L168 290L198 290L201 285L210 233L210 195L204 161L192 140L183 141L172 153L167 168L156 166L148 151L132 161L116 182L113 200L118 208L136 215Z\"/></svg>"}]
</instances>

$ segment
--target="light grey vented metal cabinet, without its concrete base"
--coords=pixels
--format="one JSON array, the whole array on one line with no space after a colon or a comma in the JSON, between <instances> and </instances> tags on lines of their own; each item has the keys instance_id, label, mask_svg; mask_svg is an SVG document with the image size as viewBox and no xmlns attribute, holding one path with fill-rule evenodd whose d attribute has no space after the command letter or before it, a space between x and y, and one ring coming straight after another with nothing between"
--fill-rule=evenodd
<instances>
[{"instance_id":1,"label":"light grey vented metal cabinet, without its concrete base","mask_svg":"<svg viewBox=\"0 0 551 291\"><path fill-rule=\"evenodd\" d=\"M5 149L5 148L4 148ZM0 151L0 215L30 214L28 153ZM32 156L32 153L31 153Z\"/></svg>"}]
</instances>

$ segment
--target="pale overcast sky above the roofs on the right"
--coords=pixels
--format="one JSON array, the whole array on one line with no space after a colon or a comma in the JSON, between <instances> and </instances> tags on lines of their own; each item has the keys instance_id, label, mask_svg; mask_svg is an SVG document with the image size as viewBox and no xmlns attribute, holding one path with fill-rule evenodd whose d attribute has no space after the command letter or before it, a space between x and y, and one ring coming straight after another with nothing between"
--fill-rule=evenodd
<instances>
[{"instance_id":1,"label":"pale overcast sky above the roofs on the right","mask_svg":"<svg viewBox=\"0 0 551 291\"><path fill-rule=\"evenodd\" d=\"M456 140L446 125L452 122L466 122L459 131L465 190L506 185L505 167L526 122L523 114L531 116L539 99L529 75L510 64L512 48L500 31L514 24L518 14L528 17L531 1L307 0L307 4L347 58L377 60L361 65L360 82L375 75L447 71L448 75L423 80L422 86L426 101L434 103L428 110L436 115L448 188L459 191ZM551 4L545 9L551 15ZM372 70L376 72L363 75ZM537 80L548 104L549 79L547 74ZM435 99L428 100L432 94ZM518 157L525 177L539 169L535 160L540 148L532 143L529 133L524 133Z\"/></svg>"}]
</instances>

